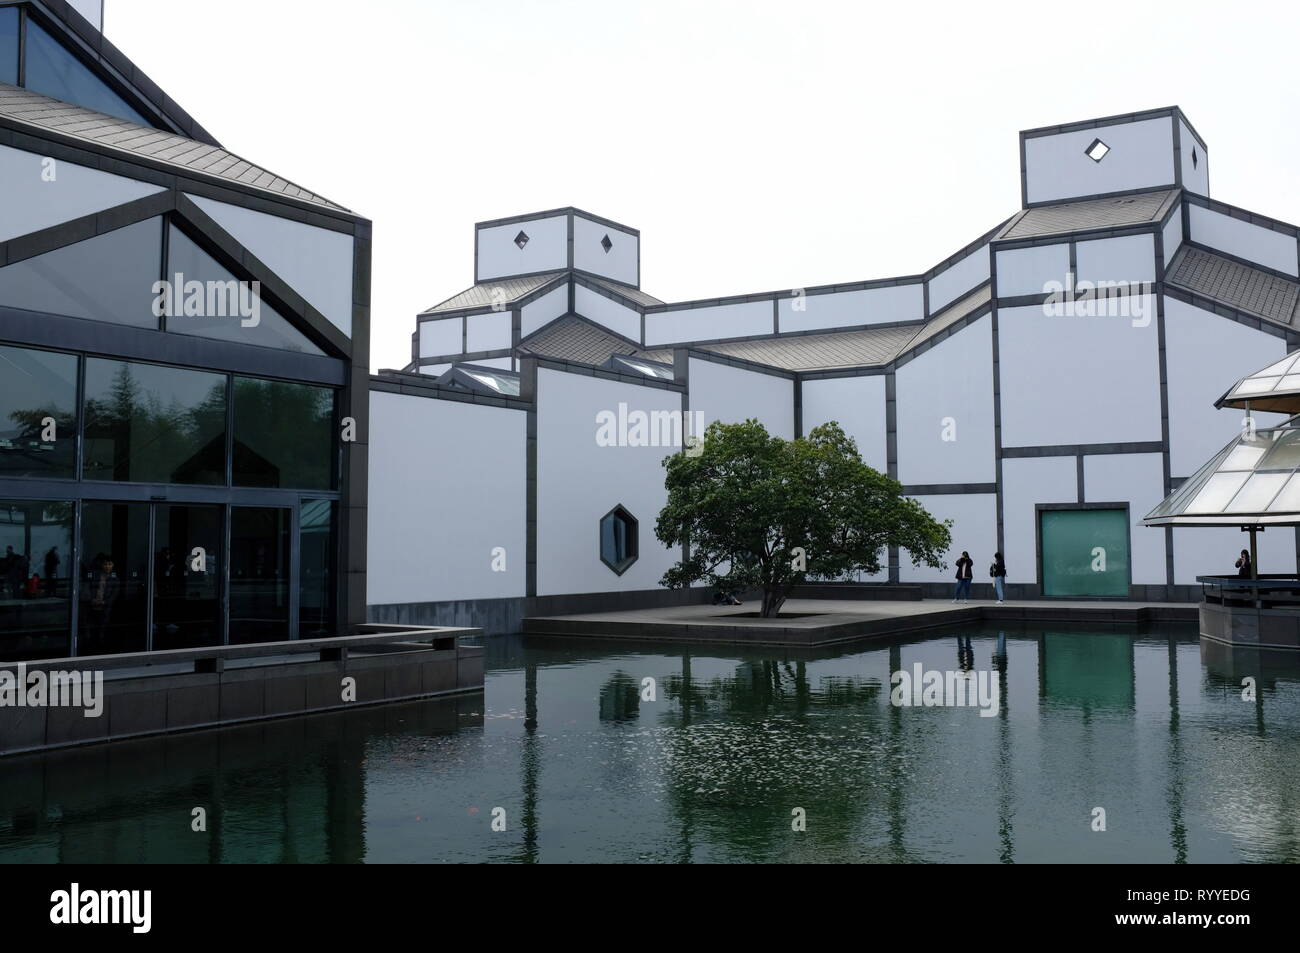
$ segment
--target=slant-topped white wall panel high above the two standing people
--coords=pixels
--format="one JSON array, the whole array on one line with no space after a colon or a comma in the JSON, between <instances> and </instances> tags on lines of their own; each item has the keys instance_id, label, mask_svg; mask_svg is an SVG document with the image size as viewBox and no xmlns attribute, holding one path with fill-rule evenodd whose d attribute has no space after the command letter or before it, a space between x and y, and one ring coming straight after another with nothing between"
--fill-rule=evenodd
<instances>
[{"instance_id":1,"label":"slant-topped white wall panel high above the two standing people","mask_svg":"<svg viewBox=\"0 0 1300 953\"><path fill-rule=\"evenodd\" d=\"M992 326L982 317L896 372L900 482L996 478Z\"/></svg>"}]
</instances>

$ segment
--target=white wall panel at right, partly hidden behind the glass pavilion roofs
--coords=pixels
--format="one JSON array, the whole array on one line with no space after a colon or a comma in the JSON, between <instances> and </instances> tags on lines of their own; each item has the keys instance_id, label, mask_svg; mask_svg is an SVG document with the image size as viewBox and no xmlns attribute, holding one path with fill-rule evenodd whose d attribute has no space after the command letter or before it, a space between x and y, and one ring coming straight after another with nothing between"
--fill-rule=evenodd
<instances>
[{"instance_id":1,"label":"white wall panel at right, partly hidden behind the glass pavilion roofs","mask_svg":"<svg viewBox=\"0 0 1300 953\"><path fill-rule=\"evenodd\" d=\"M1214 410L1240 378L1282 360L1282 338L1165 298L1170 472L1187 477L1242 433L1244 411ZM1283 420L1256 413L1261 428Z\"/></svg>"}]
</instances>

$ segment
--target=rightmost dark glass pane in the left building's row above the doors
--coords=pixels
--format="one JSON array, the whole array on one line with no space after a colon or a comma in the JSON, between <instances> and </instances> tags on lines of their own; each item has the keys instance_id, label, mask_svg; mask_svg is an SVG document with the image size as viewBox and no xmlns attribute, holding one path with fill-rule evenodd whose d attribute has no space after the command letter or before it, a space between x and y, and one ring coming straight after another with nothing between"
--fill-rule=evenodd
<instances>
[{"instance_id":1,"label":"rightmost dark glass pane in the left building's row above the doors","mask_svg":"<svg viewBox=\"0 0 1300 953\"><path fill-rule=\"evenodd\" d=\"M235 486L334 489L334 391L235 377Z\"/></svg>"}]
</instances>

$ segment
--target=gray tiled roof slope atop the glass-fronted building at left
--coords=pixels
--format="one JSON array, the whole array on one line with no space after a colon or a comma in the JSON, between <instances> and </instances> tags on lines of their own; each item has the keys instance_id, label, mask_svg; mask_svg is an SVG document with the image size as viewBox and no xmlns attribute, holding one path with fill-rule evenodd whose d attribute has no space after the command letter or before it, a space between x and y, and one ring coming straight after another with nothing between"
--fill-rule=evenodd
<instances>
[{"instance_id":1,"label":"gray tiled roof slope atop the glass-fronted building at left","mask_svg":"<svg viewBox=\"0 0 1300 953\"><path fill-rule=\"evenodd\" d=\"M220 146L186 139L174 133L140 126L114 116L105 116L92 109L42 96L39 92L18 86L0 83L0 116L131 156L164 163L187 174L238 182L315 205L342 212L348 211L286 178L226 152Z\"/></svg>"}]
</instances>

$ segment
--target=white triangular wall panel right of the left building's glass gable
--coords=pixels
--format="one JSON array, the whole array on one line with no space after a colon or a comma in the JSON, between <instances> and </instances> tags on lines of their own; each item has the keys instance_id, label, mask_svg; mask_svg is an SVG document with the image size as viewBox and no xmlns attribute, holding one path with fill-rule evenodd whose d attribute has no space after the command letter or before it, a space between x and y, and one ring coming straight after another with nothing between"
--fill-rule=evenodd
<instances>
[{"instance_id":1,"label":"white triangular wall panel right of the left building's glass gable","mask_svg":"<svg viewBox=\"0 0 1300 953\"><path fill-rule=\"evenodd\" d=\"M190 195L341 332L352 337L351 235Z\"/></svg>"}]
</instances>

